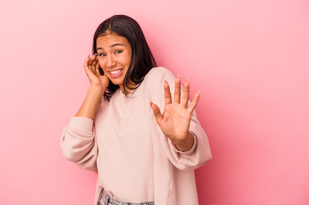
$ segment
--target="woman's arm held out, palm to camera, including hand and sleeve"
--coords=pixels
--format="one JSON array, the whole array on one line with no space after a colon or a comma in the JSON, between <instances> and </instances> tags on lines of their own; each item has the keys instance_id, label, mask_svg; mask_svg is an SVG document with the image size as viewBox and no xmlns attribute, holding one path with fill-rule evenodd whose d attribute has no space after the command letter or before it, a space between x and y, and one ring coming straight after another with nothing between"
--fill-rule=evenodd
<instances>
[{"instance_id":1,"label":"woman's arm held out, palm to camera, including hand and sleeve","mask_svg":"<svg viewBox=\"0 0 309 205\"><path fill-rule=\"evenodd\" d=\"M164 104L152 104L161 146L165 155L178 169L195 169L212 157L207 136L194 111L200 92L194 95L190 103L189 81L186 80L182 92L179 77L175 79L169 72L168 75L169 78L164 78L168 81L164 83L164 93L158 89L155 99L159 103L160 96L164 95ZM173 81L175 87L169 88L168 85ZM174 99L170 92L174 93ZM162 114L160 110L163 110Z\"/></svg>"}]
</instances>

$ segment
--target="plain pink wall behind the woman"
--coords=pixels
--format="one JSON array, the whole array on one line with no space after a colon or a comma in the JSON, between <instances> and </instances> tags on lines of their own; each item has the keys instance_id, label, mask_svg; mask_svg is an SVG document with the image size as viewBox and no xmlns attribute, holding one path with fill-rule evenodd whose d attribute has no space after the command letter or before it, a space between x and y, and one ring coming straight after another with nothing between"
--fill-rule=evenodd
<instances>
[{"instance_id":1,"label":"plain pink wall behind the woman","mask_svg":"<svg viewBox=\"0 0 309 205\"><path fill-rule=\"evenodd\" d=\"M309 204L308 0L1 0L0 205L91 205L96 174L60 135L88 88L96 27L136 19L158 64L189 78L213 159L200 205Z\"/></svg>"}]
</instances>

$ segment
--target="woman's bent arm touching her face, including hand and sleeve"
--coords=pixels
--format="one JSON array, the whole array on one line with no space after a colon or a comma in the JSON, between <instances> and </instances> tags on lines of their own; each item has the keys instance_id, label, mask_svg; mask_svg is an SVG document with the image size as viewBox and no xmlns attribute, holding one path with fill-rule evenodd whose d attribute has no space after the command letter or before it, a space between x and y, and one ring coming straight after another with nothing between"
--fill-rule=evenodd
<instances>
[{"instance_id":1,"label":"woman's bent arm touching her face, including hand and sleeve","mask_svg":"<svg viewBox=\"0 0 309 205\"><path fill-rule=\"evenodd\" d=\"M90 87L80 106L76 117L72 117L64 129L61 138L61 148L64 157L83 169L97 172L97 141L93 117L97 106L109 84L106 76L101 76L96 55L87 57L84 70L89 78Z\"/></svg>"}]
</instances>

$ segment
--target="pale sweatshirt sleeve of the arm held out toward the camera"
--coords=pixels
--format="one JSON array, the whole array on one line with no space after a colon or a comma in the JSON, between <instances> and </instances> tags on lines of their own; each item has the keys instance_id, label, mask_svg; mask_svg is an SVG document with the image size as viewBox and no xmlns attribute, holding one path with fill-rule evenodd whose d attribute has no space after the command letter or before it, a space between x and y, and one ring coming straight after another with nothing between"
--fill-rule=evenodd
<instances>
[{"instance_id":1,"label":"pale sweatshirt sleeve of the arm held out toward the camera","mask_svg":"<svg viewBox=\"0 0 309 205\"><path fill-rule=\"evenodd\" d=\"M154 103L158 105L160 111L164 110L164 80L166 80L170 86L170 92L172 94L172 98L174 97L175 90L175 76L165 68L161 72L157 72L157 76L155 77L156 81L159 82L157 84L157 88L154 90ZM183 90L182 90L183 93ZM173 100L173 99L172 99ZM190 102L188 102L189 106ZM158 137L160 140L160 144L162 146L163 152L168 157L170 162L180 170L187 169L196 169L206 162L208 162L211 158L211 151L209 147L209 142L204 132L201 124L199 123L195 110L193 111L193 115L190 122L189 132L193 134L194 143L193 147L188 151L179 151L175 148L171 141L166 137L161 131L160 127L157 126Z\"/></svg>"}]
</instances>

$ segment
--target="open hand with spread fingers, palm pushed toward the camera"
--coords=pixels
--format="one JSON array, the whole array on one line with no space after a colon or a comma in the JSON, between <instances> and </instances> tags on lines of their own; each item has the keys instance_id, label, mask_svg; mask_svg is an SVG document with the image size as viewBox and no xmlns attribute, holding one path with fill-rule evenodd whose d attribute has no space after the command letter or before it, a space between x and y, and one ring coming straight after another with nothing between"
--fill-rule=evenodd
<instances>
[{"instance_id":1,"label":"open hand with spread fingers, palm pushed toward the camera","mask_svg":"<svg viewBox=\"0 0 309 205\"><path fill-rule=\"evenodd\" d=\"M184 94L181 99L180 77L175 80L174 102L172 102L171 92L167 81L164 83L164 111L161 114L157 105L151 102L156 122L160 126L164 135L181 151L187 151L193 146L193 135L189 133L189 126L194 108L197 105L200 90L194 95L193 101L189 101L189 80L184 84Z\"/></svg>"}]
</instances>

